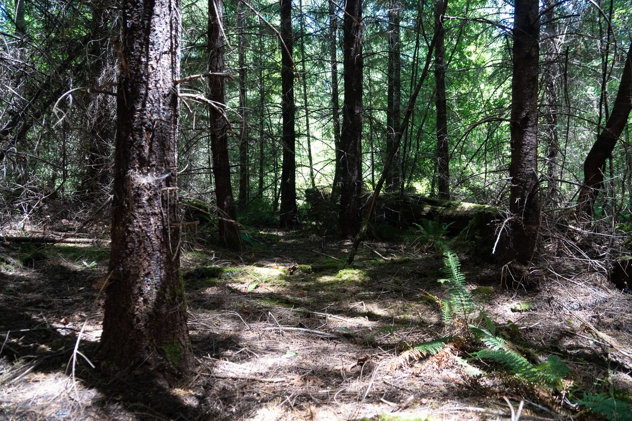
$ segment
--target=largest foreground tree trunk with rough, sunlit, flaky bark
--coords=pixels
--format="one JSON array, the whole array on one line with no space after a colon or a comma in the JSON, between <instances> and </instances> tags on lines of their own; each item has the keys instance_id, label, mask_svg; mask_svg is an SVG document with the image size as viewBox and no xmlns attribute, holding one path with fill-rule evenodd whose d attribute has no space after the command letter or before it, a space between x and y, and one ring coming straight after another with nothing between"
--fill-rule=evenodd
<instances>
[{"instance_id":1,"label":"largest foreground tree trunk with rough, sunlit, flaky bark","mask_svg":"<svg viewBox=\"0 0 632 421\"><path fill-rule=\"evenodd\" d=\"M178 0L123 2L104 369L166 379L193 364L179 276Z\"/></svg>"}]
</instances>

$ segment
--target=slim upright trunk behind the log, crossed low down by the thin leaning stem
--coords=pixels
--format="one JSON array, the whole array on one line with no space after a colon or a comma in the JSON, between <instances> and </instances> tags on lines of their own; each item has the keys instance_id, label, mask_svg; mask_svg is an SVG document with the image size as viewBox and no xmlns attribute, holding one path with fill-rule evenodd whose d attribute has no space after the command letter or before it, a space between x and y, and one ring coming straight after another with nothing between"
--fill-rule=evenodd
<instances>
[{"instance_id":1,"label":"slim upright trunk behind the log, crossed low down by the thin leaning stem","mask_svg":"<svg viewBox=\"0 0 632 421\"><path fill-rule=\"evenodd\" d=\"M401 42L399 40L399 0L389 1L389 83L387 88L386 113L386 156L395 147L399 125L401 122ZM385 190L398 190L401 178L399 151L395 150L394 159L386 174Z\"/></svg>"}]
</instances>

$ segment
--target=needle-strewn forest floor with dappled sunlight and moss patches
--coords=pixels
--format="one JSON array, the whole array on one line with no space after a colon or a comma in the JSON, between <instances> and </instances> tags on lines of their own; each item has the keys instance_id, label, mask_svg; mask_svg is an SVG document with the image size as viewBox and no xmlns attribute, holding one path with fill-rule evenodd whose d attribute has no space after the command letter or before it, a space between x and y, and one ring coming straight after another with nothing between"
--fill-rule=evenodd
<instances>
[{"instance_id":1,"label":"needle-strewn forest floor with dappled sunlight and moss patches","mask_svg":"<svg viewBox=\"0 0 632 421\"><path fill-rule=\"evenodd\" d=\"M248 241L242 254L184 248L198 365L175 389L106 379L92 367L106 244L0 245L0 418L600 419L576 405L583 393L632 395L632 296L588 269L561 276L574 262L525 291L502 287L497 267L459 256L495 334L533 367L550 355L568 365L547 389L468 359L485 346L467 325L485 322L442 321L441 253L410 239L369 241L346 267L350 241L301 231L258 231ZM406 352L448 334L432 357ZM624 409L619 419L628 419Z\"/></svg>"}]
</instances>

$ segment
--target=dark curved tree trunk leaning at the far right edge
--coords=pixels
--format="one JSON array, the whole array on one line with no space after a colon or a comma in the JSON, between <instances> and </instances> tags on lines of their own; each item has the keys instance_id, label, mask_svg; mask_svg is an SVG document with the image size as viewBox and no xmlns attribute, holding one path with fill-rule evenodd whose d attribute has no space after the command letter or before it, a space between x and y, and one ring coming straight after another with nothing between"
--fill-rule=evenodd
<instances>
[{"instance_id":1,"label":"dark curved tree trunk leaning at the far right edge","mask_svg":"<svg viewBox=\"0 0 632 421\"><path fill-rule=\"evenodd\" d=\"M603 168L612 154L617 139L621 136L632 109L632 42L630 43L626 63L619 83L619 91L612 106L612 113L605 122L604 130L599 133L595 144L584 161L584 183L577 199L577 215L580 219L590 220L595 214L595 199L604 183Z\"/></svg>"}]
</instances>

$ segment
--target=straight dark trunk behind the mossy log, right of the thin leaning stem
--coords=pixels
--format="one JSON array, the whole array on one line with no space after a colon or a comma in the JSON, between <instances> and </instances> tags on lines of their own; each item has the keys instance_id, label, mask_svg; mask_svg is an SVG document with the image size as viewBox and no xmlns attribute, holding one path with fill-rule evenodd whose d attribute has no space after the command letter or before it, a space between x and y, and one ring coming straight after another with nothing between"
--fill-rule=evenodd
<instances>
[{"instance_id":1,"label":"straight dark trunk behind the mossy log, right of the thin leaning stem","mask_svg":"<svg viewBox=\"0 0 632 421\"><path fill-rule=\"evenodd\" d=\"M447 0L435 0L435 83L437 108L437 187L439 198L450 198L450 151L447 137L447 105L446 105L446 47L443 26Z\"/></svg>"}]
</instances>

